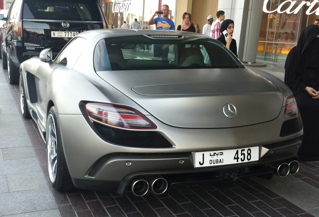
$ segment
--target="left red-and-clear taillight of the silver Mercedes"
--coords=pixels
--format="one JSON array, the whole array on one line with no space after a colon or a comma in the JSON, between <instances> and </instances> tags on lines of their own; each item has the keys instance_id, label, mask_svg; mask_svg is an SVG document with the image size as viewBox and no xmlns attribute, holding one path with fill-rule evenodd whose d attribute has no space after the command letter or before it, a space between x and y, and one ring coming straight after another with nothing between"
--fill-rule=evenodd
<instances>
[{"instance_id":1,"label":"left red-and-clear taillight of the silver Mercedes","mask_svg":"<svg viewBox=\"0 0 319 217\"><path fill-rule=\"evenodd\" d=\"M127 129L156 129L143 114L125 105L88 102L85 104L88 116L98 122Z\"/></svg>"}]
</instances>

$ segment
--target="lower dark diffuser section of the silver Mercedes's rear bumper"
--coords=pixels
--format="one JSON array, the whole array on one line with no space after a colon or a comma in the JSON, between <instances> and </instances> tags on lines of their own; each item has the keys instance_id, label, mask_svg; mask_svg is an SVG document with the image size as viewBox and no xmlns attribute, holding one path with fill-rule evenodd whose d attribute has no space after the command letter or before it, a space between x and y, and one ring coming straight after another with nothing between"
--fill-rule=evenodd
<instances>
[{"instance_id":1,"label":"lower dark diffuser section of the silver Mercedes's rear bumper","mask_svg":"<svg viewBox=\"0 0 319 217\"><path fill-rule=\"evenodd\" d=\"M97 162L91 170L90 175L85 179L73 178L76 187L89 190L113 191L118 194L125 194L129 189L131 181L137 177L147 179L149 176L160 175L168 181L169 187L179 183L192 182L232 182L236 179L250 176L263 176L271 178L274 171L266 165L274 165L288 159L297 160L295 154L301 145L301 140L294 139L279 144L263 146L269 151L256 162L237 165L215 166L208 168L194 168L192 153L180 153L176 155L144 155L118 153L116 156L105 156L103 162ZM285 154L285 155L283 155ZM131 167L131 173L128 173ZM116 168L116 169L114 169ZM135 168L135 169L133 169ZM93 172L92 172L93 171ZM95 179L104 176L105 172L113 171L118 176L124 176L118 181L102 181ZM133 172L134 171L134 172ZM115 174L108 173L113 176Z\"/></svg>"}]
</instances>

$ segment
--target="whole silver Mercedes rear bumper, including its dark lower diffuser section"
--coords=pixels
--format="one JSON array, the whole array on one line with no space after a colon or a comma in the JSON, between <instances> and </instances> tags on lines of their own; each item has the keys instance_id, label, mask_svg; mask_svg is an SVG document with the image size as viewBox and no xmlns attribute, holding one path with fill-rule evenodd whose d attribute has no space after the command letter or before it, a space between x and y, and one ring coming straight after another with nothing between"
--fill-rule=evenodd
<instances>
[{"instance_id":1,"label":"whole silver Mercedes rear bumper, including its dark lower diffuser section","mask_svg":"<svg viewBox=\"0 0 319 217\"><path fill-rule=\"evenodd\" d=\"M244 176L273 174L265 165L285 159L297 160L302 136L301 128L297 133L280 138L281 125L274 122L233 129L170 127L165 133L161 132L164 127L157 122L157 131L173 147L134 148L103 140L83 115L59 115L59 120L65 157L75 186L90 190L118 191L121 194L126 192L131 180L138 176L161 175L171 185L183 180L198 181L197 177L201 177L201 180L227 181ZM194 152L255 146L259 147L258 161L194 167Z\"/></svg>"}]
</instances>

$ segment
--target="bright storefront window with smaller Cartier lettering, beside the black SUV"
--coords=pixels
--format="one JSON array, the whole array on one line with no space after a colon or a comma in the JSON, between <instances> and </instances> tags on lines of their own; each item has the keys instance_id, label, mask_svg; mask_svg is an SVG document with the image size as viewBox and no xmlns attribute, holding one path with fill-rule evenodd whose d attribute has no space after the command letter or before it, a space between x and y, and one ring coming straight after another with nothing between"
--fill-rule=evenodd
<instances>
[{"instance_id":1,"label":"bright storefront window with smaller Cartier lettering, beside the black SUV","mask_svg":"<svg viewBox=\"0 0 319 217\"><path fill-rule=\"evenodd\" d=\"M153 29L147 22L153 13L169 5L170 19L174 21L176 1L172 0L101 0L100 5L105 14L109 28L118 29L124 21L128 26L137 19L141 29ZM174 4L173 4L174 3Z\"/></svg>"}]
</instances>

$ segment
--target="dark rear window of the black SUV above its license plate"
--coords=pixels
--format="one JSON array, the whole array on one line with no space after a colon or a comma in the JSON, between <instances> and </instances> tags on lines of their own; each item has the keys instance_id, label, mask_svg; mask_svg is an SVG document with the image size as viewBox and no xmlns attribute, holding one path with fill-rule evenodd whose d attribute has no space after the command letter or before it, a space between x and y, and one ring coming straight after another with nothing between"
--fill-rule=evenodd
<instances>
[{"instance_id":1,"label":"dark rear window of the black SUV above its license plate","mask_svg":"<svg viewBox=\"0 0 319 217\"><path fill-rule=\"evenodd\" d=\"M96 1L83 0L26 0L23 9L24 19L99 21L101 16Z\"/></svg>"}]
</instances>

